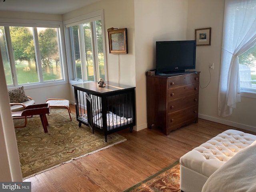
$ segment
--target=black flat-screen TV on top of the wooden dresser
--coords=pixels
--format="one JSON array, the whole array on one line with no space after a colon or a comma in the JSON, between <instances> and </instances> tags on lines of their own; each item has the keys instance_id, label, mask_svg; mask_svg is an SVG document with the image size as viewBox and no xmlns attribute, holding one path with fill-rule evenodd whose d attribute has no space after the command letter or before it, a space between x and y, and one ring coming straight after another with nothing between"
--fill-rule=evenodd
<instances>
[{"instance_id":1,"label":"black flat-screen TV on top of the wooden dresser","mask_svg":"<svg viewBox=\"0 0 256 192\"><path fill-rule=\"evenodd\" d=\"M196 68L196 40L156 42L156 73L171 74Z\"/></svg>"}]
</instances>

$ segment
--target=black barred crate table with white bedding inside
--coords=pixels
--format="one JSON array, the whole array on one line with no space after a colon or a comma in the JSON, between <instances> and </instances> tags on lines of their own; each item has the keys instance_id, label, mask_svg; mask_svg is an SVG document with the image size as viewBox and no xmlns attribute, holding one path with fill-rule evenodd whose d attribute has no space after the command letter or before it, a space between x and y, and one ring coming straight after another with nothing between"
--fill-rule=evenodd
<instances>
[{"instance_id":1,"label":"black barred crate table with white bedding inside","mask_svg":"<svg viewBox=\"0 0 256 192\"><path fill-rule=\"evenodd\" d=\"M98 87L97 82L76 84L74 86L76 120L82 124L102 131L107 135L130 128L136 124L135 87L108 83Z\"/></svg>"}]
</instances>

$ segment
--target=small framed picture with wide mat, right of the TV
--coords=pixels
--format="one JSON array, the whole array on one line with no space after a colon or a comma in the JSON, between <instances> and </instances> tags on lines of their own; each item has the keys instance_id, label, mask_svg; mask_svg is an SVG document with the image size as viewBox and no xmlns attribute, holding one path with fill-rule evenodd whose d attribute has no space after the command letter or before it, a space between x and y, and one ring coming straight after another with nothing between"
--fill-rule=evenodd
<instances>
[{"instance_id":1,"label":"small framed picture with wide mat, right of the TV","mask_svg":"<svg viewBox=\"0 0 256 192\"><path fill-rule=\"evenodd\" d=\"M212 28L203 28L195 30L196 46L211 45Z\"/></svg>"}]
</instances>

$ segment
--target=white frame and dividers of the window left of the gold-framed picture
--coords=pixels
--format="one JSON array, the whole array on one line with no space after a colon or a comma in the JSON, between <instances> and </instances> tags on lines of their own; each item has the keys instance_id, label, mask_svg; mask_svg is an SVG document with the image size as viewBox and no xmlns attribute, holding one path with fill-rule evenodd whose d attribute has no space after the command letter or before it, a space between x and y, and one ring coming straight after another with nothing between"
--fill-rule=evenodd
<instances>
[{"instance_id":1,"label":"white frame and dividers of the window left of the gold-framed picture","mask_svg":"<svg viewBox=\"0 0 256 192\"><path fill-rule=\"evenodd\" d=\"M69 20L64 20L63 25L64 25L64 34L65 34L65 42L66 42L66 53L67 53L67 63L68 63L68 76L69 76L69 82L70 84L80 84L84 82L88 82L85 80L85 72L82 70L82 80L76 79L75 72L76 72L76 66L74 65L73 57L72 57L72 49L71 49L71 39L70 39L70 27L75 26L75 25L80 25L83 23L88 23L88 22L94 22L96 20L101 20L102 24L102 44L103 44L103 54L104 54L104 70L105 70L105 80L108 81L108 73L107 73L107 54L106 54L106 34L104 32L105 29L105 24L104 24L104 10L99 10L96 12L92 12L89 14L85 14L82 16L78 16L76 18L72 18ZM94 30L94 27L92 27L92 36L96 35L96 30ZM92 46L97 46L95 38L92 38ZM94 49L94 48L92 48ZM98 53L93 54L93 60L95 60L98 57ZM95 62L94 62L94 65ZM95 70L94 69L94 81L98 81L97 78L99 76L99 70L98 67Z\"/></svg>"}]
</instances>

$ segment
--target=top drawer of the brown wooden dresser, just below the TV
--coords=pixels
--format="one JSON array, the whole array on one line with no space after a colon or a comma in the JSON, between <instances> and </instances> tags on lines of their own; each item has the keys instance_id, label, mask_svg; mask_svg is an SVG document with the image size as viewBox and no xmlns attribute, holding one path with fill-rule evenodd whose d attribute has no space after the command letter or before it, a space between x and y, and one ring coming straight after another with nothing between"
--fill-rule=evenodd
<instances>
[{"instance_id":1,"label":"top drawer of the brown wooden dresser, just below the TV","mask_svg":"<svg viewBox=\"0 0 256 192\"><path fill-rule=\"evenodd\" d=\"M168 89L196 83L199 83L199 75L197 74L168 78Z\"/></svg>"}]
</instances>

